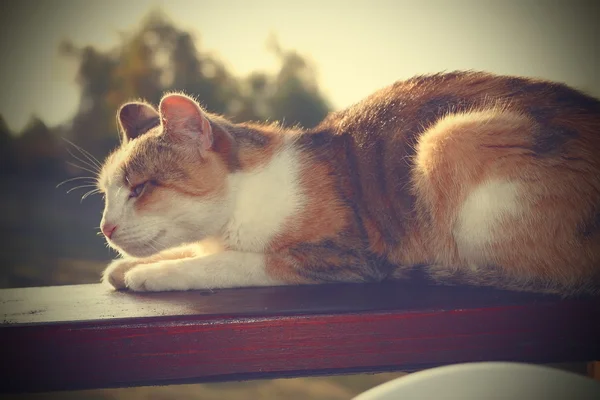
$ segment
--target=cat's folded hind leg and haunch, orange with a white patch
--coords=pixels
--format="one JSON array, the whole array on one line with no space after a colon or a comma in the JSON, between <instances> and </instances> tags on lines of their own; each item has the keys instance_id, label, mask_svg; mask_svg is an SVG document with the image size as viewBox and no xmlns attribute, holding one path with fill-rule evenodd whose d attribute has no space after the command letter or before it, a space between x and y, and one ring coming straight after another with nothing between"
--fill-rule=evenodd
<instances>
[{"instance_id":1,"label":"cat's folded hind leg and haunch, orange with a white patch","mask_svg":"<svg viewBox=\"0 0 600 400\"><path fill-rule=\"evenodd\" d=\"M430 275L587 291L599 275L600 235L582 226L598 213L600 171L590 144L577 140L584 133L507 110L449 115L428 129L413 183Z\"/></svg>"}]
</instances>

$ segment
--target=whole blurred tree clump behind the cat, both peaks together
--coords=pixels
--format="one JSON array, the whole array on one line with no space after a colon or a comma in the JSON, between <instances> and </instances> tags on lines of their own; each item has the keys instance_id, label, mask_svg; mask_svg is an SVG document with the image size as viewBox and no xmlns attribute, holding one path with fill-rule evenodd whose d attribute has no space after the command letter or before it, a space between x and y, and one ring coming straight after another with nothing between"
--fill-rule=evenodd
<instances>
[{"instance_id":1,"label":"whole blurred tree clump behind the cat, both peaks together","mask_svg":"<svg viewBox=\"0 0 600 400\"><path fill-rule=\"evenodd\" d=\"M312 127L329 111L314 68L275 39L269 50L280 69L273 76L254 72L236 77L198 45L190 32L179 29L160 10L150 12L137 29L121 33L119 44L109 50L63 42L61 54L79 64L81 87L69 139L103 158L118 143L118 107L134 99L157 104L168 91L190 94L207 110L238 122L277 120Z\"/></svg>"}]
</instances>

